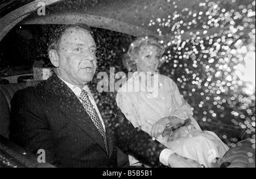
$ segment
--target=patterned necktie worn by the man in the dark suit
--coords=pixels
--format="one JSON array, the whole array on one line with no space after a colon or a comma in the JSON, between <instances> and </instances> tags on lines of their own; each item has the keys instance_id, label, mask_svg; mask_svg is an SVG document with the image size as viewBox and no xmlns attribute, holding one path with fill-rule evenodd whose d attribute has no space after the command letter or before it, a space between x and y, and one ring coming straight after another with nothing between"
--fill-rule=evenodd
<instances>
[{"instance_id":1,"label":"patterned necktie worn by the man in the dark suit","mask_svg":"<svg viewBox=\"0 0 256 179\"><path fill-rule=\"evenodd\" d=\"M90 102L88 92L86 92L85 90L82 90L79 98L82 100L82 105L84 106L86 112L89 114L94 125L97 127L98 131L100 132L101 136L103 137L106 151L107 151L107 154L109 155L108 145L107 145L107 141L106 141L106 133L103 129L100 117L98 117L96 109L94 108L93 104Z\"/></svg>"}]
</instances>

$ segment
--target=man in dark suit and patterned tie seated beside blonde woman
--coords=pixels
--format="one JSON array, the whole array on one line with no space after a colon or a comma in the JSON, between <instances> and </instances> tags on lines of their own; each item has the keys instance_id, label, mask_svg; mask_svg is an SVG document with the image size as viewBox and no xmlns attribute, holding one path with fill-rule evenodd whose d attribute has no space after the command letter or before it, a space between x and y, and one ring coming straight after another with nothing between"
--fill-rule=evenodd
<instances>
[{"instance_id":1,"label":"man in dark suit and patterned tie seated beside blonde woman","mask_svg":"<svg viewBox=\"0 0 256 179\"><path fill-rule=\"evenodd\" d=\"M96 73L96 44L85 24L65 25L48 48L55 74L15 93L10 139L56 167L117 167L117 147L144 164L200 167L135 129L117 109L101 116L87 86Z\"/></svg>"}]
</instances>

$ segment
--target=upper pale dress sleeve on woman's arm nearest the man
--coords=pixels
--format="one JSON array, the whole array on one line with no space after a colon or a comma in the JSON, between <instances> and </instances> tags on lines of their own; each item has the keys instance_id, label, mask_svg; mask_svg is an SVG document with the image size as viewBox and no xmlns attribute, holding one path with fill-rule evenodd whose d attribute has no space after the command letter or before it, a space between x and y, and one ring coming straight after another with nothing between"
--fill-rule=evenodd
<instances>
[{"instance_id":1,"label":"upper pale dress sleeve on woman's arm nearest the man","mask_svg":"<svg viewBox=\"0 0 256 179\"><path fill-rule=\"evenodd\" d=\"M129 95L126 95L126 92L118 92L116 101L117 106L121 109L122 113L125 114L127 120L133 123L134 127L141 127L141 120L139 114Z\"/></svg>"}]
</instances>

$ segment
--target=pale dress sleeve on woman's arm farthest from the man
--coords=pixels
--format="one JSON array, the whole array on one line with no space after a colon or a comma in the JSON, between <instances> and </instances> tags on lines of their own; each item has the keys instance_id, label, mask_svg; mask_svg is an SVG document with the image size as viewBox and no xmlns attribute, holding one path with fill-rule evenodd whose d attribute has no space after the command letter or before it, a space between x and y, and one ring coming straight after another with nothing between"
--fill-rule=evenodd
<instances>
[{"instance_id":1,"label":"pale dress sleeve on woman's arm farthest from the man","mask_svg":"<svg viewBox=\"0 0 256 179\"><path fill-rule=\"evenodd\" d=\"M171 79L170 79L171 80ZM181 118L183 120L188 117L193 116L193 112L191 110L191 106L187 103L187 101L181 97L179 92L179 88L175 84L173 80L171 80L171 90L172 90L172 99L175 105L175 110L172 110L170 116L175 116Z\"/></svg>"}]
</instances>

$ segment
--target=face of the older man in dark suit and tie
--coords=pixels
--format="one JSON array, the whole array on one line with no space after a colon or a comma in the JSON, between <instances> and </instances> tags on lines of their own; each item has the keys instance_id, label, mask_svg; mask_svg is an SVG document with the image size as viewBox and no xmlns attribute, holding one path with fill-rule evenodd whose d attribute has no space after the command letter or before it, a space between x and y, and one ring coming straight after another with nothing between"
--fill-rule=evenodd
<instances>
[{"instance_id":1,"label":"face of the older man in dark suit and tie","mask_svg":"<svg viewBox=\"0 0 256 179\"><path fill-rule=\"evenodd\" d=\"M92 81L97 68L96 50L89 32L81 28L68 29L60 41L59 75L79 86Z\"/></svg>"}]
</instances>

